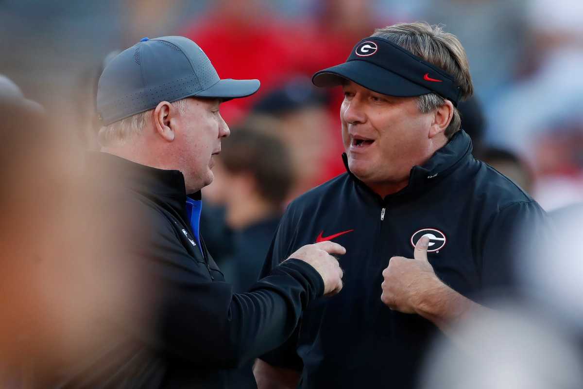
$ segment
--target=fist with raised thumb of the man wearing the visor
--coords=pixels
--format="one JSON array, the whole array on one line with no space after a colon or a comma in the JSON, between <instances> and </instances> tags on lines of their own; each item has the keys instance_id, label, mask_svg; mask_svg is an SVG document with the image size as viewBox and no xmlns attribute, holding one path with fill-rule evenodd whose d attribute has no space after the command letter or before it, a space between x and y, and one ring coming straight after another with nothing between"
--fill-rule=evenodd
<instances>
[{"instance_id":1,"label":"fist with raised thumb of the man wearing the visor","mask_svg":"<svg viewBox=\"0 0 583 389\"><path fill-rule=\"evenodd\" d=\"M417 309L427 293L444 285L427 260L429 238L423 236L415 245L413 259L392 257L382 276L381 300L402 313L419 313Z\"/></svg>"}]
</instances>

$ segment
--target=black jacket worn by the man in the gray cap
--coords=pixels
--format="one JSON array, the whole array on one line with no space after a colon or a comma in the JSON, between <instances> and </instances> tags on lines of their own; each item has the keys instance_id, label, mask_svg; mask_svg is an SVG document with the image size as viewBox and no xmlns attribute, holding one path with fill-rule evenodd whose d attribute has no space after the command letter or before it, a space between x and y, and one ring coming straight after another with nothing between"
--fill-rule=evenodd
<instances>
[{"instance_id":1,"label":"black jacket worn by the man in the gray cap","mask_svg":"<svg viewBox=\"0 0 583 389\"><path fill-rule=\"evenodd\" d=\"M134 328L124 329L123 354L115 348L104 352L90 366L72 369L76 374L59 387L226 388L224 369L282 344L301 310L322 296L318 272L293 259L250 292L233 293L202 238L202 252L196 247L185 218L187 195L180 171L104 153L92 155L89 165L107 166L113 174L89 177L97 183L104 212L108 205L121 205L138 221L137 229L124 234L122 250L110 254L118 261L135 261L143 271L149 309ZM128 215L112 217L123 222Z\"/></svg>"}]
</instances>

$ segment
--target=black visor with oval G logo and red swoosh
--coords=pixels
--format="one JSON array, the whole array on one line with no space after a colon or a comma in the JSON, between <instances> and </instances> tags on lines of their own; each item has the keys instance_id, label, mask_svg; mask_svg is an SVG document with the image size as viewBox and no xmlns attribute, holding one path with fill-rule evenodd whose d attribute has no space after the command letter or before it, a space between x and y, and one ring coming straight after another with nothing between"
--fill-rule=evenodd
<instances>
[{"instance_id":1,"label":"black visor with oval G logo and red swoosh","mask_svg":"<svg viewBox=\"0 0 583 389\"><path fill-rule=\"evenodd\" d=\"M366 52L362 52L367 45ZM338 76L389 96L420 96L435 92L457 106L461 89L453 76L380 37L357 43L344 64L314 74L316 86L339 85Z\"/></svg>"}]
</instances>

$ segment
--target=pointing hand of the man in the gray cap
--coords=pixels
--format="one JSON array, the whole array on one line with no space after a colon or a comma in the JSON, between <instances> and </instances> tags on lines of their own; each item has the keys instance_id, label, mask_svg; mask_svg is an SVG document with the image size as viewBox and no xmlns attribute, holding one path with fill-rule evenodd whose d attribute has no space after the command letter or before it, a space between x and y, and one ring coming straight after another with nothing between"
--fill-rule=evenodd
<instances>
[{"instance_id":1,"label":"pointing hand of the man in the gray cap","mask_svg":"<svg viewBox=\"0 0 583 389\"><path fill-rule=\"evenodd\" d=\"M324 280L324 295L332 296L342 289L343 275L338 260L332 254L346 254L346 248L338 243L324 241L302 246L289 258L296 258L312 265Z\"/></svg>"}]
</instances>

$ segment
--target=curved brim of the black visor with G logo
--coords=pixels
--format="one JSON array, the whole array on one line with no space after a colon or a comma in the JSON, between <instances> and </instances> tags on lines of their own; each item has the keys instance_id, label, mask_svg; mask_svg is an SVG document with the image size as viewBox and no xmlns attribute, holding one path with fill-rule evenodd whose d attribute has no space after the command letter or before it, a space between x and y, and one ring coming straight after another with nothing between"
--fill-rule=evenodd
<instances>
[{"instance_id":1,"label":"curved brim of the black visor with G logo","mask_svg":"<svg viewBox=\"0 0 583 389\"><path fill-rule=\"evenodd\" d=\"M346 80L388 96L407 97L431 93L426 87L366 61L345 62L316 72L312 77L314 85L319 87L339 86Z\"/></svg>"}]
</instances>

